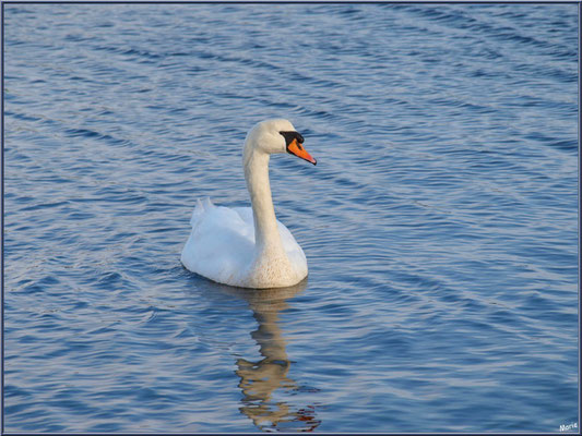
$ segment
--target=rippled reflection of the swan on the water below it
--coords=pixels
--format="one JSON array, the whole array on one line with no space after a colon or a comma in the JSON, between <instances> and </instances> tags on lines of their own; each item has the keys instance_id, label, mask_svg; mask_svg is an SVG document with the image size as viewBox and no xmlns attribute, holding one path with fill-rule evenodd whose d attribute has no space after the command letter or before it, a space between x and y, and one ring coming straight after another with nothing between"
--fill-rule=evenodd
<instances>
[{"instance_id":1,"label":"rippled reflection of the swan on the water below it","mask_svg":"<svg viewBox=\"0 0 582 436\"><path fill-rule=\"evenodd\" d=\"M239 410L260 429L310 432L321 423L316 419L313 405L297 408L274 399L304 390L288 376L292 361L287 356L280 313L288 307L287 300L304 291L306 287L307 279L289 288L223 288L225 292L245 299L259 323L259 328L251 332L251 337L257 341L262 359L238 359L235 373L240 378L238 387L242 391Z\"/></svg>"}]
</instances>

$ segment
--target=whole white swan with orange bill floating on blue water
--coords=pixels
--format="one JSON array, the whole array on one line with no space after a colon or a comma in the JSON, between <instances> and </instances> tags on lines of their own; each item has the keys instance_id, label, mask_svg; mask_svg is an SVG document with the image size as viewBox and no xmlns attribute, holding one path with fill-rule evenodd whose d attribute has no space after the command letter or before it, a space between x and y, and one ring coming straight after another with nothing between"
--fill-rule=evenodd
<instances>
[{"instance_id":1,"label":"whole white swan with orange bill floating on blue water","mask_svg":"<svg viewBox=\"0 0 582 436\"><path fill-rule=\"evenodd\" d=\"M218 283L239 288L284 288L307 277L307 259L290 231L275 217L269 158L288 153L313 165L304 137L287 120L265 120L247 134L242 153L252 207L223 207L197 201L182 265Z\"/></svg>"}]
</instances>

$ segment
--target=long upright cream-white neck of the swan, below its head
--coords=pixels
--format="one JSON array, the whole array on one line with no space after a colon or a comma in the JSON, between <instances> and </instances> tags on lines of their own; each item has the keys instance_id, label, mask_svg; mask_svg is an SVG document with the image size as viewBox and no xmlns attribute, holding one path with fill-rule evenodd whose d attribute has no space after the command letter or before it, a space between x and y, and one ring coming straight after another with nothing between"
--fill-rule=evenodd
<instances>
[{"instance_id":1,"label":"long upright cream-white neck of the swan, below its head","mask_svg":"<svg viewBox=\"0 0 582 436\"><path fill-rule=\"evenodd\" d=\"M269 155L266 153L252 149L246 154L245 179L252 204L257 254L278 255L284 253L271 197Z\"/></svg>"}]
</instances>

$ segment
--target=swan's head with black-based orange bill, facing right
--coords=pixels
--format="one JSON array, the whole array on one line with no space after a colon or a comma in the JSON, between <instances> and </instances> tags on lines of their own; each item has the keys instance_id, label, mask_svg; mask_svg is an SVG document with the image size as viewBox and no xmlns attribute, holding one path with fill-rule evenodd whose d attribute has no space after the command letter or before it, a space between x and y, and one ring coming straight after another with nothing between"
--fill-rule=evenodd
<instances>
[{"instance_id":1,"label":"swan's head with black-based orange bill, facing right","mask_svg":"<svg viewBox=\"0 0 582 436\"><path fill-rule=\"evenodd\" d=\"M289 153L317 165L304 147L304 137L287 120L266 120L256 124L247 135L245 147L246 152L250 147L269 155Z\"/></svg>"}]
</instances>

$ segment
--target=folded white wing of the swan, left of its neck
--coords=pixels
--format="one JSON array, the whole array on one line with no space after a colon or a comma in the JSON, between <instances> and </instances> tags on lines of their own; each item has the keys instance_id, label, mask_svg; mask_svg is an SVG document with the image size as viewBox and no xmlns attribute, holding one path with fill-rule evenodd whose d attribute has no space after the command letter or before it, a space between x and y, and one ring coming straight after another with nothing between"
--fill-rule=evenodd
<instances>
[{"instance_id":1,"label":"folded white wing of the swan, left of its neck","mask_svg":"<svg viewBox=\"0 0 582 436\"><path fill-rule=\"evenodd\" d=\"M191 222L192 231L181 255L183 266L222 282L245 270L252 259L254 229L249 229L239 214L210 201L199 202Z\"/></svg>"}]
</instances>

